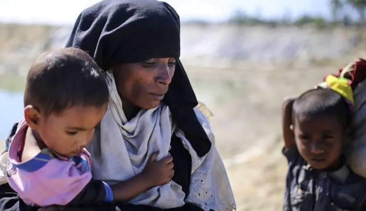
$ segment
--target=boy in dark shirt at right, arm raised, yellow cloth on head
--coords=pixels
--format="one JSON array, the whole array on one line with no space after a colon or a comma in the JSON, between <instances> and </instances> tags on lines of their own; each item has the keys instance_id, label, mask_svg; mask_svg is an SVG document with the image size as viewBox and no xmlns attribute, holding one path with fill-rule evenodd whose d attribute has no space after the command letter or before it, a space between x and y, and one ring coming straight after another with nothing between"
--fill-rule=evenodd
<instances>
[{"instance_id":1,"label":"boy in dark shirt at right, arm raised, yellow cloth on head","mask_svg":"<svg viewBox=\"0 0 366 211\"><path fill-rule=\"evenodd\" d=\"M285 211L366 210L366 180L342 155L350 132L351 88L335 76L326 82L326 88L283 103L283 154L289 165Z\"/></svg>"}]
</instances>

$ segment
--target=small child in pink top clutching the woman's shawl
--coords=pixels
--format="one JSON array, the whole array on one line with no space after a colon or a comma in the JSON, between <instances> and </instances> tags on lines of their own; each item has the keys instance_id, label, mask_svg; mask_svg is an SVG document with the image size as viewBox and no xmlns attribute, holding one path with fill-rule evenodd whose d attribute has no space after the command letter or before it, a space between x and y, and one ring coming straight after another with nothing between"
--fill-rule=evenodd
<instances>
[{"instance_id":1,"label":"small child in pink top clutching the woman's shawl","mask_svg":"<svg viewBox=\"0 0 366 211\"><path fill-rule=\"evenodd\" d=\"M94 60L66 48L42 54L27 76L24 118L8 149L10 186L31 206L129 201L173 175L172 158L155 162L127 181L93 180L85 146L104 116L109 91Z\"/></svg>"}]
</instances>

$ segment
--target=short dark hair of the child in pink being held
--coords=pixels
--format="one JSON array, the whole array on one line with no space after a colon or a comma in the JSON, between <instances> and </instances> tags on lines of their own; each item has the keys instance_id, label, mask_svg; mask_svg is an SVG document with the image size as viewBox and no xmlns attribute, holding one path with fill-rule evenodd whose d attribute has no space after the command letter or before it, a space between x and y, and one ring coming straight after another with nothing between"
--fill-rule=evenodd
<instances>
[{"instance_id":1,"label":"short dark hair of the child in pink being held","mask_svg":"<svg viewBox=\"0 0 366 211\"><path fill-rule=\"evenodd\" d=\"M101 69L85 51L63 48L41 54L30 67L24 106L42 114L60 114L72 106L100 107L109 91Z\"/></svg>"}]
</instances>

